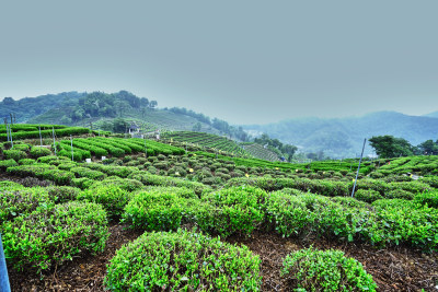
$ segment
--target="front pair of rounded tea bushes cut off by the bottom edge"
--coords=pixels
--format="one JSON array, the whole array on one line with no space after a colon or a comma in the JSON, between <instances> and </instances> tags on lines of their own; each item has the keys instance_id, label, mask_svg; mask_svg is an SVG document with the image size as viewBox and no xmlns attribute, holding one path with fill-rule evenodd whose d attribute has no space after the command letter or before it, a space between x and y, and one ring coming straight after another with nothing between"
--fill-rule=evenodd
<instances>
[{"instance_id":1,"label":"front pair of rounded tea bushes cut off by the bottom edge","mask_svg":"<svg viewBox=\"0 0 438 292\"><path fill-rule=\"evenodd\" d=\"M183 230L151 232L117 250L104 284L110 291L260 291L261 264L244 245ZM339 250L292 252L283 266L290 291L377 289L362 265Z\"/></svg>"}]
</instances>

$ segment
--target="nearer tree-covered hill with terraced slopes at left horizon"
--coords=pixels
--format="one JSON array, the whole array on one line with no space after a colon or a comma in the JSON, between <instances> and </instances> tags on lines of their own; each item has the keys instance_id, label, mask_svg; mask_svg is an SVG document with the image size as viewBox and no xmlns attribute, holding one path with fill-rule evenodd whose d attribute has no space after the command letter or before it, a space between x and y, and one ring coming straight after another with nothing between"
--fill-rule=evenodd
<instances>
[{"instance_id":1,"label":"nearer tree-covered hill with terraced slopes at left horizon","mask_svg":"<svg viewBox=\"0 0 438 292\"><path fill-rule=\"evenodd\" d=\"M158 108L157 101L138 97L127 91L116 93L60 93L14 101L5 97L0 103L0 117L15 115L16 122L57 124L125 132L135 122L142 131L203 131L227 135L245 141L247 135L227 121L187 110ZM120 120L122 119L122 120Z\"/></svg>"}]
</instances>

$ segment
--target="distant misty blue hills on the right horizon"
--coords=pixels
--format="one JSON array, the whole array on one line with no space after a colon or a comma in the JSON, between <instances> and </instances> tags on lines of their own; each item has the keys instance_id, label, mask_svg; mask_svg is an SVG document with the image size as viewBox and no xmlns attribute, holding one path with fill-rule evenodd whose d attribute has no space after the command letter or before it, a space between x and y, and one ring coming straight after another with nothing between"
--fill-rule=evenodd
<instances>
[{"instance_id":1,"label":"distant misty blue hills on the right horizon","mask_svg":"<svg viewBox=\"0 0 438 292\"><path fill-rule=\"evenodd\" d=\"M300 118L268 125L243 126L253 132L266 132L272 138L298 145L306 152L324 151L332 157L360 153L364 138L392 135L417 145L438 138L438 118L407 116L395 112L379 112L348 118ZM372 149L368 145L366 154Z\"/></svg>"}]
</instances>

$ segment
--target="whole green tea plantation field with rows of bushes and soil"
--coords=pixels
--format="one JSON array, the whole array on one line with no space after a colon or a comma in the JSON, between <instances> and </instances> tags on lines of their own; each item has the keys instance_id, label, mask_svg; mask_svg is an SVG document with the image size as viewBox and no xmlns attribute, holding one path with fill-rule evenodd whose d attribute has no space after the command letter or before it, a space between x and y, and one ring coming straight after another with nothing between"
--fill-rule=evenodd
<instances>
[{"instance_id":1,"label":"whole green tea plantation field with rows of bushes and soil","mask_svg":"<svg viewBox=\"0 0 438 292\"><path fill-rule=\"evenodd\" d=\"M438 156L365 161L351 198L356 160L290 164L67 137L1 143L13 291L438 284Z\"/></svg>"}]
</instances>

